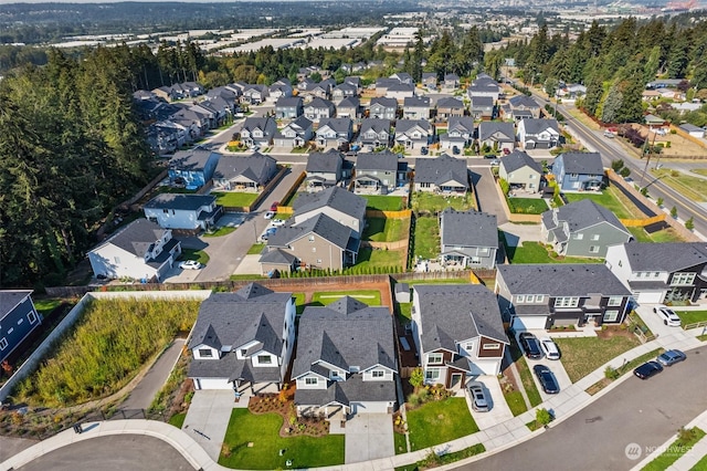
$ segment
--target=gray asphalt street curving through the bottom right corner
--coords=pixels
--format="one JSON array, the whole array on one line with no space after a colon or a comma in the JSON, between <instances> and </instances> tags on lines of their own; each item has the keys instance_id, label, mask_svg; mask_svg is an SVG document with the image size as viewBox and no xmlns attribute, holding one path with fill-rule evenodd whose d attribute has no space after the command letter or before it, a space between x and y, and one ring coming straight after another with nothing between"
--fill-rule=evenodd
<instances>
[{"instance_id":1,"label":"gray asphalt street curving through the bottom right corner","mask_svg":"<svg viewBox=\"0 0 707 471\"><path fill-rule=\"evenodd\" d=\"M642 381L636 377L545 433L463 470L630 470L652 447L707 410L707 347L687 352L687 360ZM626 458L629 443L642 453Z\"/></svg>"}]
</instances>

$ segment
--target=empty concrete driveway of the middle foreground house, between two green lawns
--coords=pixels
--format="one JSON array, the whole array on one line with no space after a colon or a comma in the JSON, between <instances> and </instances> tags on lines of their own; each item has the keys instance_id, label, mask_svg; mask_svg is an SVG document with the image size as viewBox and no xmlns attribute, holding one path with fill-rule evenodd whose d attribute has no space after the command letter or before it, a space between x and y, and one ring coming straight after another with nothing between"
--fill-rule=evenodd
<instances>
[{"instance_id":1,"label":"empty concrete driveway of the middle foreground house, between two green lawns","mask_svg":"<svg viewBox=\"0 0 707 471\"><path fill-rule=\"evenodd\" d=\"M393 419L389 414L357 414L347 420L344 462L359 463L393 457Z\"/></svg>"}]
</instances>

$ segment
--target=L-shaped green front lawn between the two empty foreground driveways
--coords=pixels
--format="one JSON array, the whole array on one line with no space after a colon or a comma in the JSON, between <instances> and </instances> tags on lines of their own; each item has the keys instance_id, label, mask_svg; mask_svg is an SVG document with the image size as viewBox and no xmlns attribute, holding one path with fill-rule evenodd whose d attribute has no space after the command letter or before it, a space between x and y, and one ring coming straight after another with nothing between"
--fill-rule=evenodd
<instances>
[{"instance_id":1,"label":"L-shaped green front lawn between the two empty foreground driveways","mask_svg":"<svg viewBox=\"0 0 707 471\"><path fill-rule=\"evenodd\" d=\"M233 409L223 439L219 464L228 468L275 470L344 464L344 436L283 438L278 414L253 415L247 409ZM250 446L252 443L252 446ZM283 456L279 450L286 450Z\"/></svg>"}]
</instances>

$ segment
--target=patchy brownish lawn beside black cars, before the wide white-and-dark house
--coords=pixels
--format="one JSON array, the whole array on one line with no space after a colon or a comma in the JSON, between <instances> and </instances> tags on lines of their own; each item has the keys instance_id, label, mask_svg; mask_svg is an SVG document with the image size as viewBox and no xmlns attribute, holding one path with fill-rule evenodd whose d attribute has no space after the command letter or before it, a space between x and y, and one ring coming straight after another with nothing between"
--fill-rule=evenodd
<instances>
[{"instance_id":1,"label":"patchy brownish lawn beside black cars, before the wide white-and-dark house","mask_svg":"<svg viewBox=\"0 0 707 471\"><path fill-rule=\"evenodd\" d=\"M633 335L615 335L609 338L556 338L555 342L560 347L562 366L572 383L582 379L610 359L641 345Z\"/></svg>"}]
</instances>

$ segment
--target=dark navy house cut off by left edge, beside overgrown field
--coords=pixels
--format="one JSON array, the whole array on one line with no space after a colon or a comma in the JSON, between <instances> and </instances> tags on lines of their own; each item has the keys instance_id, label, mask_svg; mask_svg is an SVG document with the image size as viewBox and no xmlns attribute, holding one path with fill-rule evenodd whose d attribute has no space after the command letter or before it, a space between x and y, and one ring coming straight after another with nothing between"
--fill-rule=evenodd
<instances>
[{"instance_id":1,"label":"dark navy house cut off by left edge, beside overgrown field","mask_svg":"<svg viewBox=\"0 0 707 471\"><path fill-rule=\"evenodd\" d=\"M30 294L30 290L0 291L0 362L42 323Z\"/></svg>"}]
</instances>

